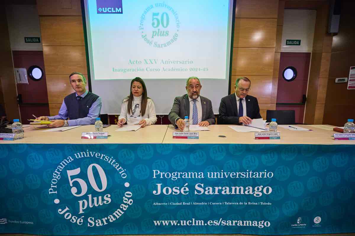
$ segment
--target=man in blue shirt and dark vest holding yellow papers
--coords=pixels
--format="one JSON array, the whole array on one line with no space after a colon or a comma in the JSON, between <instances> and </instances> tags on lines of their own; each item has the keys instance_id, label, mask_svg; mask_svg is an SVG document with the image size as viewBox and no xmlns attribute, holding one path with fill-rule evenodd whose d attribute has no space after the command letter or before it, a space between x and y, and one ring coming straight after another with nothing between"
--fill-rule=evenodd
<instances>
[{"instance_id":1,"label":"man in blue shirt and dark vest holding yellow papers","mask_svg":"<svg viewBox=\"0 0 355 236\"><path fill-rule=\"evenodd\" d=\"M84 75L73 72L69 76L69 81L75 93L64 98L59 114L37 118L38 120L53 121L48 125L49 127L93 125L100 115L101 98L86 90Z\"/></svg>"}]
</instances>

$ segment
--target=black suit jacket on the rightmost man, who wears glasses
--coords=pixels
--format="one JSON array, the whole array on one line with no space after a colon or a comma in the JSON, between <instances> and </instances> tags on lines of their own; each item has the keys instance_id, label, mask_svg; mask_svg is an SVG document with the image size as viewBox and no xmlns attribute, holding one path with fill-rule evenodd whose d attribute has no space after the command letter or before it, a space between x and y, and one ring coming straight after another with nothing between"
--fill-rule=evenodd
<instances>
[{"instance_id":1,"label":"black suit jacket on the rightmost man, who wears glasses","mask_svg":"<svg viewBox=\"0 0 355 236\"><path fill-rule=\"evenodd\" d=\"M258 99L256 99L256 97L247 95L245 97L245 102L246 116L250 117L250 119L261 118ZM219 124L241 125L241 123L239 123L237 99L235 97L235 93L232 93L221 99L218 111Z\"/></svg>"}]
</instances>

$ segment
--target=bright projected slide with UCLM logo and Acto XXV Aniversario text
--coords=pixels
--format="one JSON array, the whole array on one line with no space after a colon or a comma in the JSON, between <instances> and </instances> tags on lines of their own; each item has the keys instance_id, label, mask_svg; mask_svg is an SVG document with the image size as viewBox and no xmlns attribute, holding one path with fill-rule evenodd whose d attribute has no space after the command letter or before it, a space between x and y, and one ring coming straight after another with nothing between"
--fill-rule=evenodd
<instances>
[{"instance_id":1,"label":"bright projected slide with UCLM logo and Acto XXV Aniversario text","mask_svg":"<svg viewBox=\"0 0 355 236\"><path fill-rule=\"evenodd\" d=\"M87 0L91 79L228 79L229 8L228 0Z\"/></svg>"}]
</instances>

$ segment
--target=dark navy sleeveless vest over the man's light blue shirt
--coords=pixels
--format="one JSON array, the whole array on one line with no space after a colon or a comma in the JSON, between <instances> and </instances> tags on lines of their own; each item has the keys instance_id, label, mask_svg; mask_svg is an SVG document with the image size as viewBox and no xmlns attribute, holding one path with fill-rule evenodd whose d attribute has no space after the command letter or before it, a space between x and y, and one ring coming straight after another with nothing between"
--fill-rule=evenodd
<instances>
[{"instance_id":1,"label":"dark navy sleeveless vest over the man's light blue shirt","mask_svg":"<svg viewBox=\"0 0 355 236\"><path fill-rule=\"evenodd\" d=\"M64 103L68 110L70 120L87 117L91 105L98 99L94 93L88 91L88 94L81 100L76 98L76 93L69 94L64 98Z\"/></svg>"}]
</instances>

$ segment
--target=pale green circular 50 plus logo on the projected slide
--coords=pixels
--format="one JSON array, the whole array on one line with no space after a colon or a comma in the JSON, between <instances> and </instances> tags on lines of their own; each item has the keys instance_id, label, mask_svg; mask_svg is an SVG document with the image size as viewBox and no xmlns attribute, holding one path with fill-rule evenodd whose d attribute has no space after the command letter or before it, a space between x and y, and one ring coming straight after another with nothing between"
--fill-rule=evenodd
<instances>
[{"instance_id":1,"label":"pale green circular 50 plus logo on the projected slide","mask_svg":"<svg viewBox=\"0 0 355 236\"><path fill-rule=\"evenodd\" d=\"M149 5L141 15L138 29L142 40L149 46L168 47L179 38L178 12L165 2Z\"/></svg>"}]
</instances>

